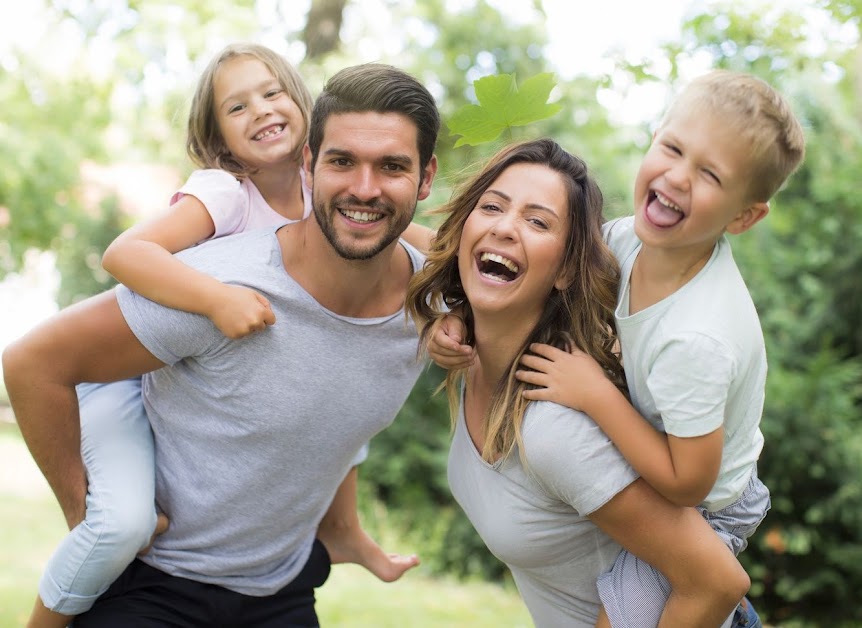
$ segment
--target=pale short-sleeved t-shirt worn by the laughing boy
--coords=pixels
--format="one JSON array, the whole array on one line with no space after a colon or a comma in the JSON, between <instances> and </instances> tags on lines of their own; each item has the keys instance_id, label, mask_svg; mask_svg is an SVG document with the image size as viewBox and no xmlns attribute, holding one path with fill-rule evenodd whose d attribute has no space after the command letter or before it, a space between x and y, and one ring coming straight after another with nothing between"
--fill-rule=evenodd
<instances>
[{"instance_id":1,"label":"pale short-sleeved t-shirt worn by the laughing boy","mask_svg":"<svg viewBox=\"0 0 862 628\"><path fill-rule=\"evenodd\" d=\"M760 417L766 346L757 310L721 237L688 283L629 314L641 242L631 217L607 223L605 238L622 269L615 317L632 405L668 434L686 438L724 427L721 467L704 507L739 499L763 448Z\"/></svg>"}]
</instances>

